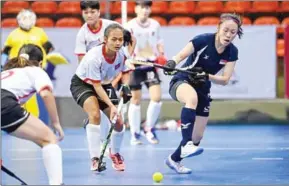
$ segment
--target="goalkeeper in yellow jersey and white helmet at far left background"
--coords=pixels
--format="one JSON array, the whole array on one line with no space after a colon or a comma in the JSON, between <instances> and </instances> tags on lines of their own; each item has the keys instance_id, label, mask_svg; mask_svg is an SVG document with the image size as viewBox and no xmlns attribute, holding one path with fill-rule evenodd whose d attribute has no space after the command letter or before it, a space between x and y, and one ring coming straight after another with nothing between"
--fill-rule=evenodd
<instances>
[{"instance_id":1,"label":"goalkeeper in yellow jersey and white helmet at far left background","mask_svg":"<svg viewBox=\"0 0 289 186\"><path fill-rule=\"evenodd\" d=\"M4 48L2 49L2 66L5 65L7 59L18 56L19 49L25 44L35 44L41 48L43 58L43 68L48 73L51 80L55 80L53 76L55 65L57 63L68 63L61 54L52 54L47 56L54 50L53 44L49 41L45 31L35 26L36 14L30 9L22 9L17 15L18 28L14 29L7 37ZM50 61L48 61L50 57ZM59 62L58 62L59 61ZM51 63L52 62L52 63ZM36 117L39 117L48 124L48 114L39 95L34 95L24 104L24 108Z\"/></svg>"}]
</instances>

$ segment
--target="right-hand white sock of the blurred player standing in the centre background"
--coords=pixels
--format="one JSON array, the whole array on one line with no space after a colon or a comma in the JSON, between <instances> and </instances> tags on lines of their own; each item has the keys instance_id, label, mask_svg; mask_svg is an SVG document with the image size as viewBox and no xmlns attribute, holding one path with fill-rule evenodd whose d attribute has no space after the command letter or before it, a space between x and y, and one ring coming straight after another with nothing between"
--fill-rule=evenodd
<instances>
[{"instance_id":1,"label":"right-hand white sock of the blurred player standing in the centre background","mask_svg":"<svg viewBox=\"0 0 289 186\"><path fill-rule=\"evenodd\" d=\"M162 102L150 101L150 104L147 109L147 120L146 120L146 126L148 128L153 128L156 125L156 122L161 112L161 107Z\"/></svg>"}]
</instances>

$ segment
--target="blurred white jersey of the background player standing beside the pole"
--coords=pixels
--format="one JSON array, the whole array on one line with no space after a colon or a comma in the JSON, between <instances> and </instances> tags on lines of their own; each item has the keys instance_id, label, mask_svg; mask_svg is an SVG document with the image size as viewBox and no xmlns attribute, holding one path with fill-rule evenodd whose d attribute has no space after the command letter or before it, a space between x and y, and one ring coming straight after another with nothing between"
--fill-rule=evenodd
<instances>
[{"instance_id":1,"label":"blurred white jersey of the background player standing beside the pole","mask_svg":"<svg viewBox=\"0 0 289 186\"><path fill-rule=\"evenodd\" d=\"M125 28L136 38L134 58L155 61L159 55L157 45L163 42L160 36L160 24L151 18L145 24L141 24L137 18L134 18L125 25Z\"/></svg>"}]
</instances>

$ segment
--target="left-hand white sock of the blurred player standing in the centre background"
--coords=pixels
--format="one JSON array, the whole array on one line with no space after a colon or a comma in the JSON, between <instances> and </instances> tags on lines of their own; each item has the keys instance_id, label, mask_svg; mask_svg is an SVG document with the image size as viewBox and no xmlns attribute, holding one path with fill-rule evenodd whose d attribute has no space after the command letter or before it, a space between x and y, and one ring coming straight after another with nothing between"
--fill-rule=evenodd
<instances>
[{"instance_id":1,"label":"left-hand white sock of the blurred player standing in the centre background","mask_svg":"<svg viewBox=\"0 0 289 186\"><path fill-rule=\"evenodd\" d=\"M131 134L140 133L141 113L140 105L130 104L128 108L128 121Z\"/></svg>"}]
</instances>

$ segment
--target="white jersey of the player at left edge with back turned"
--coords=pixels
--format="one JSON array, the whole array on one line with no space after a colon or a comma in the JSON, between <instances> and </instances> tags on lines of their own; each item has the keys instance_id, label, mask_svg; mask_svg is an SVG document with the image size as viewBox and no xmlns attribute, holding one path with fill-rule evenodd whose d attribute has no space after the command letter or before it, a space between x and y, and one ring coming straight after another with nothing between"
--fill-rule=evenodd
<instances>
[{"instance_id":1,"label":"white jersey of the player at left edge with back turned","mask_svg":"<svg viewBox=\"0 0 289 186\"><path fill-rule=\"evenodd\" d=\"M13 93L20 104L34 93L44 89L52 91L53 85L47 73L40 67L14 68L1 72L1 88Z\"/></svg>"}]
</instances>

